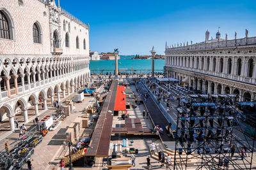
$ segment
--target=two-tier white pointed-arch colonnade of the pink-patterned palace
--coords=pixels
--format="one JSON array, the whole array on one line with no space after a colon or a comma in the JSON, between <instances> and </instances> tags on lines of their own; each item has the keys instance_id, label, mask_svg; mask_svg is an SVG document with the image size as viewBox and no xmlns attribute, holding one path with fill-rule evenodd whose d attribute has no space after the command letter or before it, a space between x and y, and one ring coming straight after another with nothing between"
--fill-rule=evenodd
<instances>
[{"instance_id":1,"label":"two-tier white pointed-arch colonnade of the pink-patterned palace","mask_svg":"<svg viewBox=\"0 0 256 170\"><path fill-rule=\"evenodd\" d=\"M0 122L9 119L13 131L18 113L28 122L28 110L38 115L38 104L44 103L47 110L47 104L84 87L90 79L88 66L88 57L2 57Z\"/></svg>"}]
</instances>

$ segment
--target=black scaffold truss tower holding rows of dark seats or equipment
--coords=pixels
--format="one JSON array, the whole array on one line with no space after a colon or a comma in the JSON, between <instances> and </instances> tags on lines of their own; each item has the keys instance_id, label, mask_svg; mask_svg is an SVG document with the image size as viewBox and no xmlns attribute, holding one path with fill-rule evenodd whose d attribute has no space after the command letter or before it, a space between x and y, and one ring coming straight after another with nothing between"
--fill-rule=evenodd
<instances>
[{"instance_id":1,"label":"black scaffold truss tower holding rows of dark seats or equipment","mask_svg":"<svg viewBox=\"0 0 256 170\"><path fill-rule=\"evenodd\" d=\"M180 97L179 105L174 169L252 169L255 101L202 94Z\"/></svg>"}]
</instances>

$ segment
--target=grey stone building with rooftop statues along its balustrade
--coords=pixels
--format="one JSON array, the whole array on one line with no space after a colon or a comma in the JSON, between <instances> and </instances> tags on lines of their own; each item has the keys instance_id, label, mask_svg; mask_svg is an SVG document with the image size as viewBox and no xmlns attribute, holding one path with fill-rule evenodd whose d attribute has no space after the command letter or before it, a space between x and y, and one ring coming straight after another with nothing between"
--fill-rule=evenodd
<instances>
[{"instance_id":1,"label":"grey stone building with rooftop statues along its balustrade","mask_svg":"<svg viewBox=\"0 0 256 170\"><path fill-rule=\"evenodd\" d=\"M193 90L205 94L237 94L237 100L251 101L256 92L256 37L228 40L209 39L205 32L205 41L191 41L166 45L164 71L166 77L177 78Z\"/></svg>"}]
</instances>

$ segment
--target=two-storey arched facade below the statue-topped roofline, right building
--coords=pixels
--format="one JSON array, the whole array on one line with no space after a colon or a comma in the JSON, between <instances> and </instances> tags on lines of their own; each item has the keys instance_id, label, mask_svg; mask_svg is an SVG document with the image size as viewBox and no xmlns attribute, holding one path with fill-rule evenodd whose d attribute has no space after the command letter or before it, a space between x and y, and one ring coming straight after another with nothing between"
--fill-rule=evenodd
<instances>
[{"instance_id":1,"label":"two-storey arched facade below the statue-topped roofline, right building","mask_svg":"<svg viewBox=\"0 0 256 170\"><path fill-rule=\"evenodd\" d=\"M198 53L200 53L198 55ZM225 50L166 52L166 77L205 94L237 94L252 101L256 92L255 46Z\"/></svg>"}]
</instances>

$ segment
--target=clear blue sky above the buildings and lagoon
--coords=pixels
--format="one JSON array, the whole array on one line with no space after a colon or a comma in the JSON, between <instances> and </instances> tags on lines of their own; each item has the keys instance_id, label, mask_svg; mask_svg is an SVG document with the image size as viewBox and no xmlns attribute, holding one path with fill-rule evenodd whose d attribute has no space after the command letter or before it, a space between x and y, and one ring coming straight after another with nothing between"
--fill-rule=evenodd
<instances>
[{"instance_id":1,"label":"clear blue sky above the buildings and lagoon","mask_svg":"<svg viewBox=\"0 0 256 170\"><path fill-rule=\"evenodd\" d=\"M56 0L57 1L57 0ZM209 29L214 38L220 26L221 38L256 36L256 1L172 1L172 0L60 0L60 5L84 23L90 24L92 51L120 55L148 55L152 46L164 54L168 45L204 40Z\"/></svg>"}]
</instances>

